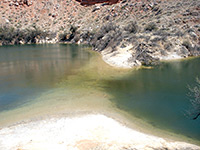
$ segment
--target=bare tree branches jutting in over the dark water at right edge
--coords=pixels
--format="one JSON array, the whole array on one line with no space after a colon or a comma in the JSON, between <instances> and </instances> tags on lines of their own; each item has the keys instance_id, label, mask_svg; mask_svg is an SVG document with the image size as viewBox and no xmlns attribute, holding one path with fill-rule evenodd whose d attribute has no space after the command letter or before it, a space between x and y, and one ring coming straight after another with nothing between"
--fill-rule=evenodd
<instances>
[{"instance_id":1,"label":"bare tree branches jutting in over the dark water at right edge","mask_svg":"<svg viewBox=\"0 0 200 150\"><path fill-rule=\"evenodd\" d=\"M192 116L193 120L196 120L200 116L200 79L196 79L196 85L194 87L189 87L190 90L190 102L192 109L189 114Z\"/></svg>"}]
</instances>

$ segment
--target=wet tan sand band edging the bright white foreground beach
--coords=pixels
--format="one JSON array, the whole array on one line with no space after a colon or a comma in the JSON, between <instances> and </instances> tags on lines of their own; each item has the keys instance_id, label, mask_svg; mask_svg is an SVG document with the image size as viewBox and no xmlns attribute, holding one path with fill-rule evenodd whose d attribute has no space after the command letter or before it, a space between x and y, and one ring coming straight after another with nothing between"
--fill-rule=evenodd
<instances>
[{"instance_id":1,"label":"wet tan sand band edging the bright white foreground beach","mask_svg":"<svg viewBox=\"0 0 200 150\"><path fill-rule=\"evenodd\" d=\"M41 114L37 116L29 116L29 117L26 116L24 119L18 118L19 119L18 121L11 121L11 122L8 121L7 123L0 126L0 134L1 130L5 128L14 128L16 126L21 126L24 124L31 124L34 122L51 120L52 118L54 119L56 118L57 120L59 120L62 118L79 118L79 117L81 118L87 115L99 114L111 118L112 120L115 120L116 122L127 128L141 132L146 135L160 137L166 139L167 141L181 141L183 143L190 143L200 146L199 141L196 139L192 139L190 137L186 137L181 134L173 133L165 129L157 128L152 124L148 123L146 120L132 116L129 113L114 107L107 108L106 110L97 109L92 111L88 109L81 109L81 110L74 110L73 112L71 112L70 110L67 111L61 110L58 113L55 112L53 113L40 112L40 113Z\"/></svg>"}]
</instances>

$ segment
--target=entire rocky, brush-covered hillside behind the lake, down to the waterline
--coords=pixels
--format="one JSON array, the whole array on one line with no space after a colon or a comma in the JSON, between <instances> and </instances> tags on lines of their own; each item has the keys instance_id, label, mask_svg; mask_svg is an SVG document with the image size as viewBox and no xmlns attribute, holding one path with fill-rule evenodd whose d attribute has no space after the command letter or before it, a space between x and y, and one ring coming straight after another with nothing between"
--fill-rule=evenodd
<instances>
[{"instance_id":1,"label":"entire rocky, brush-covered hillside behind the lake, down to the waterline","mask_svg":"<svg viewBox=\"0 0 200 150\"><path fill-rule=\"evenodd\" d=\"M200 0L3 0L0 8L2 45L86 43L125 68L200 55Z\"/></svg>"}]
</instances>

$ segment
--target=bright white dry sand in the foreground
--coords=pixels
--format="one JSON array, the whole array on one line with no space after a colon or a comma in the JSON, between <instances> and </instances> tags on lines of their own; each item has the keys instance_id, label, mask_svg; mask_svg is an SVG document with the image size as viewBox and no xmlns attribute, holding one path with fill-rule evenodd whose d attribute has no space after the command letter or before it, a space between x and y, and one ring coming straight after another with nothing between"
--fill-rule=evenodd
<instances>
[{"instance_id":1,"label":"bright white dry sand in the foreground","mask_svg":"<svg viewBox=\"0 0 200 150\"><path fill-rule=\"evenodd\" d=\"M0 150L194 149L127 128L101 114L52 118L0 130Z\"/></svg>"}]
</instances>

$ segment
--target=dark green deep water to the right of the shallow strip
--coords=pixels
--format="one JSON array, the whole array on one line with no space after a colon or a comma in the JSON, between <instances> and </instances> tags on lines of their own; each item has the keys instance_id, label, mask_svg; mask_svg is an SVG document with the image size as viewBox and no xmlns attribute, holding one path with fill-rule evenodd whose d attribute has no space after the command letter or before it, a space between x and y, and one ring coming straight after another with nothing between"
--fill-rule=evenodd
<instances>
[{"instance_id":1,"label":"dark green deep water to the right of the shallow strip","mask_svg":"<svg viewBox=\"0 0 200 150\"><path fill-rule=\"evenodd\" d=\"M200 119L186 116L190 109L188 85L200 77L200 58L163 63L133 71L128 77L104 80L106 92L123 110L161 129L200 140Z\"/></svg>"}]
</instances>

